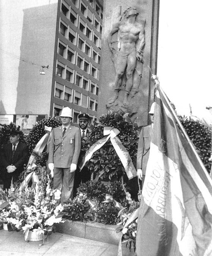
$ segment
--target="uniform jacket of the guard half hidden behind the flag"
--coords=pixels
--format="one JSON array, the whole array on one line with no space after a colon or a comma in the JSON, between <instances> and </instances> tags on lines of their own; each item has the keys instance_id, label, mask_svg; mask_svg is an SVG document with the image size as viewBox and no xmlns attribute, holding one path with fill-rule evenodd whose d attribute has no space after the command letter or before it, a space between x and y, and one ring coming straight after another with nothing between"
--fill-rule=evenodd
<instances>
[{"instance_id":1,"label":"uniform jacket of the guard half hidden behind the flag","mask_svg":"<svg viewBox=\"0 0 212 256\"><path fill-rule=\"evenodd\" d=\"M142 127L138 140L137 169L141 168L143 175L146 175L151 138L152 125Z\"/></svg>"}]
</instances>

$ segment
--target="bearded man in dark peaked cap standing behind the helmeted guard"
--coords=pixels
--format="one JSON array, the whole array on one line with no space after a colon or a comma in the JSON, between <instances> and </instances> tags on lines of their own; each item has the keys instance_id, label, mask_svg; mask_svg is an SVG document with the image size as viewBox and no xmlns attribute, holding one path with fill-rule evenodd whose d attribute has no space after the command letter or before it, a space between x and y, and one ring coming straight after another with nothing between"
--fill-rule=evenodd
<instances>
[{"instance_id":1,"label":"bearded man in dark peaked cap standing behind the helmeted guard","mask_svg":"<svg viewBox=\"0 0 212 256\"><path fill-rule=\"evenodd\" d=\"M80 151L80 156L77 164L77 170L74 177L74 196L76 195L77 188L79 187L79 185L91 179L91 174L87 167L84 166L83 169L80 171L80 168L85 158L85 152L86 152L85 150L83 150L83 140L85 140L90 134L90 131L88 130L89 119L90 117L85 113L82 113L79 115L79 126L80 126L82 144L81 144L81 151Z\"/></svg>"}]
</instances>

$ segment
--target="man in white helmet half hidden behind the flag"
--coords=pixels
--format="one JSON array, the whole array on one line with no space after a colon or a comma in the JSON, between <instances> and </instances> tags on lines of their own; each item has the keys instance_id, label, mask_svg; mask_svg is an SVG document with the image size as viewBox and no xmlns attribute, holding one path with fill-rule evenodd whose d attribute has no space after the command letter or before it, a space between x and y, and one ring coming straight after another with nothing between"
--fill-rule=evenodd
<instances>
[{"instance_id":1,"label":"man in white helmet half hidden behind the flag","mask_svg":"<svg viewBox=\"0 0 212 256\"><path fill-rule=\"evenodd\" d=\"M152 138L152 129L154 122L154 108L155 102L152 103L149 115L151 124L144 126L141 129L139 140L138 140L138 152L137 152L137 175L140 180L142 180L142 188L144 183L144 178L146 175L146 165L149 159L149 148Z\"/></svg>"}]
</instances>

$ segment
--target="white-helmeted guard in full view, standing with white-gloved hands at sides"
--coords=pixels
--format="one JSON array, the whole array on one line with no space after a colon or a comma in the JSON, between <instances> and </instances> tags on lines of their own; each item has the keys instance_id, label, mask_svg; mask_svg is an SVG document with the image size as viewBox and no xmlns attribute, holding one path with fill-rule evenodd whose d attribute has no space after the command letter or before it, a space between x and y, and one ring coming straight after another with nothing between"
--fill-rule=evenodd
<instances>
[{"instance_id":1,"label":"white-helmeted guard in full view, standing with white-gloved hands at sides","mask_svg":"<svg viewBox=\"0 0 212 256\"><path fill-rule=\"evenodd\" d=\"M73 198L74 174L81 148L78 127L71 125L72 114L69 107L63 108L62 126L52 130L49 146L49 169L54 177L54 188L61 190L61 203Z\"/></svg>"}]
</instances>

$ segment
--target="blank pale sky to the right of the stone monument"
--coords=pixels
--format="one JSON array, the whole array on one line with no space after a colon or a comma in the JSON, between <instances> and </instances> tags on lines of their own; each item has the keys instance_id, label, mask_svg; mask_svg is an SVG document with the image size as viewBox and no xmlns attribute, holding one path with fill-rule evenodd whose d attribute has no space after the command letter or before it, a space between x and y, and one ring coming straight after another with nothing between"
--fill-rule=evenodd
<instances>
[{"instance_id":1,"label":"blank pale sky to the right of the stone monument","mask_svg":"<svg viewBox=\"0 0 212 256\"><path fill-rule=\"evenodd\" d=\"M160 0L160 85L177 112L207 115L212 106L212 0Z\"/></svg>"}]
</instances>

